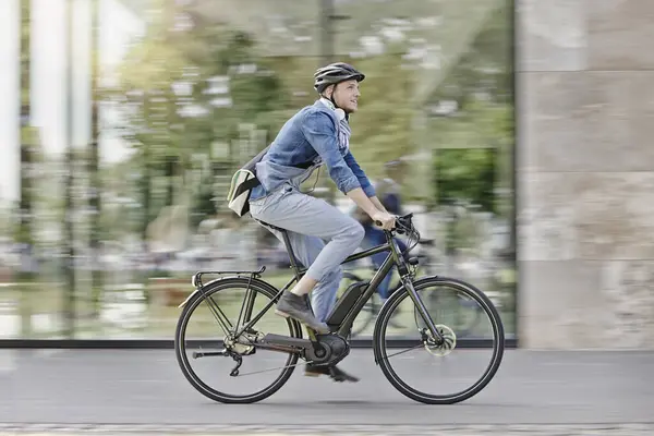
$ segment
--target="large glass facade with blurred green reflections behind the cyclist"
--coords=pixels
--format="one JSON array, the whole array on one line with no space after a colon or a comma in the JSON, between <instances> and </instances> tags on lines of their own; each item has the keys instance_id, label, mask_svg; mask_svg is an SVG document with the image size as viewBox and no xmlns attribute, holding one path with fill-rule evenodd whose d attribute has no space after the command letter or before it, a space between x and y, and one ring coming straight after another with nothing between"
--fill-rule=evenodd
<instances>
[{"instance_id":1,"label":"large glass facade with blurred green reflections behind the cyclist","mask_svg":"<svg viewBox=\"0 0 654 436\"><path fill-rule=\"evenodd\" d=\"M509 0L4 0L0 340L170 340L197 270L265 265L283 286L283 245L226 196L331 61L366 74L352 152L433 241L420 271L485 291L514 337L512 15ZM307 190L351 213L325 173Z\"/></svg>"}]
</instances>

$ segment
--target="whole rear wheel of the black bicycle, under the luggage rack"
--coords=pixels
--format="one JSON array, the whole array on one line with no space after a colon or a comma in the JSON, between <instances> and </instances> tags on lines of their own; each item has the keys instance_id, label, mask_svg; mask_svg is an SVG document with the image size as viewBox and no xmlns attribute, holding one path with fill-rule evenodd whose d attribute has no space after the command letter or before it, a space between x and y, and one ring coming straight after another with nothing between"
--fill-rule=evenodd
<instances>
[{"instance_id":1,"label":"whole rear wheel of the black bicycle, under the luggage rack","mask_svg":"<svg viewBox=\"0 0 654 436\"><path fill-rule=\"evenodd\" d=\"M198 392L214 401L252 403L271 396L289 379L298 354L252 343L266 334L301 338L300 324L275 315L270 307L249 331L234 337L277 292L258 279L228 278L207 283L186 303L174 349L182 373Z\"/></svg>"}]
</instances>

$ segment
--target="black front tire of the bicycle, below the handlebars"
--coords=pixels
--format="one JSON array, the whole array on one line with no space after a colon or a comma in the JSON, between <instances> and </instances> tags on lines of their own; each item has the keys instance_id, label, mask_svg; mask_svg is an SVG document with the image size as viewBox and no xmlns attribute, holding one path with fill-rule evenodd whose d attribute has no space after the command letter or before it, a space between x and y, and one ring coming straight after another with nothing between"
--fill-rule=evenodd
<instances>
[{"instance_id":1,"label":"black front tire of the bicycle, below the handlebars","mask_svg":"<svg viewBox=\"0 0 654 436\"><path fill-rule=\"evenodd\" d=\"M468 389L464 389L455 395L434 396L421 392L410 387L396 374L396 372L389 364L388 359L386 359L386 344L384 342L384 338L382 338L382 332L386 328L386 325L388 324L388 320L392 315L392 311L399 305L399 303L402 300L404 300L405 298L410 298L409 292L403 287L400 290L398 290L398 292L395 292L382 308L382 312L379 313L375 325L373 347L375 352L375 359L379 363L379 367L382 368L384 376L402 395L411 398L414 401L419 401L426 404L453 404L457 402L468 400L469 398L477 395L495 377L495 374L497 373L497 371L499 370L499 365L501 364L505 351L504 325L501 323L499 313L497 312L491 300L482 291L480 291L477 288L470 283L458 279L450 279L446 277L436 276L424 277L413 282L413 287L419 292L419 294L421 289L434 284L449 286L459 289L463 288L477 302L481 302L485 306L485 311L488 314L488 317L493 325L495 346L493 347L492 362L486 368L485 373L482 375L482 377Z\"/></svg>"}]
</instances>

